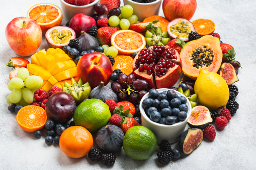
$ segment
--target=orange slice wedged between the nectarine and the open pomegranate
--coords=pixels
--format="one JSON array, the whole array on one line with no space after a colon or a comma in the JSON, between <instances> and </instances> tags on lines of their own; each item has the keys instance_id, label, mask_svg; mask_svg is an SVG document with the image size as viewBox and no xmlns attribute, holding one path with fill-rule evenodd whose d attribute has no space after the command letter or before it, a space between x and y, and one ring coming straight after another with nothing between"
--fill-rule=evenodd
<instances>
[{"instance_id":1,"label":"orange slice wedged between the nectarine and the open pomegranate","mask_svg":"<svg viewBox=\"0 0 256 170\"><path fill-rule=\"evenodd\" d=\"M116 69L120 69L126 75L129 75L133 72L132 70L132 62L133 58L130 56L116 56L115 64L113 66L113 71Z\"/></svg>"}]
</instances>

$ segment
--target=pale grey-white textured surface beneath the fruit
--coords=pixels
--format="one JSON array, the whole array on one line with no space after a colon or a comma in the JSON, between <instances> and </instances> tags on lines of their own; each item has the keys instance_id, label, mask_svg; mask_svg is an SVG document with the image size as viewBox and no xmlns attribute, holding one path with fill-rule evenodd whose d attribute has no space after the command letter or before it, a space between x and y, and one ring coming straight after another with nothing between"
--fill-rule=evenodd
<instances>
[{"instance_id":1,"label":"pale grey-white textured surface beneath the fruit","mask_svg":"<svg viewBox=\"0 0 256 170\"><path fill-rule=\"evenodd\" d=\"M179 160L173 160L167 165L157 162L156 152L147 160L133 160L125 153L117 153L114 166L107 167L100 162L91 162L88 156L70 158L58 145L47 146L43 137L35 139L33 133L22 130L16 122L16 114L7 110L6 96L10 68L5 66L11 57L17 56L9 47L5 38L7 24L16 17L25 17L33 5L52 3L60 7L59 1L5 1L2 2L1 34L0 34L0 67L1 69L1 124L0 124L0 165L1 169L256 169L255 161L255 6L250 1L197 1L197 11L191 21L199 18L210 19L216 24L216 31L223 43L231 44L240 61L240 81L235 85L239 88L236 98L239 103L237 113L232 117L227 127L216 131L212 142L203 141L191 155ZM162 14L162 10L161 10ZM63 21L63 23L66 23ZM48 48L45 38L39 50ZM29 59L29 58L27 58ZM172 145L176 147L176 145Z\"/></svg>"}]
</instances>

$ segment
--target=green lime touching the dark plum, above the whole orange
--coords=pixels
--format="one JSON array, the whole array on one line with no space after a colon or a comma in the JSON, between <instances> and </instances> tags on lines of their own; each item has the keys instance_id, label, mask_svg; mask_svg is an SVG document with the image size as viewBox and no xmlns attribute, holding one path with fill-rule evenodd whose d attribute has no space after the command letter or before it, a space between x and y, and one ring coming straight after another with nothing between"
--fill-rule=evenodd
<instances>
[{"instance_id":1,"label":"green lime touching the dark plum, above the whole orange","mask_svg":"<svg viewBox=\"0 0 256 170\"><path fill-rule=\"evenodd\" d=\"M74 123L90 132L96 132L107 125L111 113L109 106L99 99L88 99L80 103L74 111Z\"/></svg>"}]
</instances>

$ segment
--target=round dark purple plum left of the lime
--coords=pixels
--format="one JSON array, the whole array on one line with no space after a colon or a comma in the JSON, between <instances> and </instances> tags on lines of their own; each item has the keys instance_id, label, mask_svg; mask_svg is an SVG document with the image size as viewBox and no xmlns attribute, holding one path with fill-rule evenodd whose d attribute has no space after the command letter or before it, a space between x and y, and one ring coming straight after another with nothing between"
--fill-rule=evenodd
<instances>
[{"instance_id":1,"label":"round dark purple plum left of the lime","mask_svg":"<svg viewBox=\"0 0 256 170\"><path fill-rule=\"evenodd\" d=\"M58 123L65 123L73 117L76 104L72 96L66 92L57 92L46 102L46 115Z\"/></svg>"}]
</instances>

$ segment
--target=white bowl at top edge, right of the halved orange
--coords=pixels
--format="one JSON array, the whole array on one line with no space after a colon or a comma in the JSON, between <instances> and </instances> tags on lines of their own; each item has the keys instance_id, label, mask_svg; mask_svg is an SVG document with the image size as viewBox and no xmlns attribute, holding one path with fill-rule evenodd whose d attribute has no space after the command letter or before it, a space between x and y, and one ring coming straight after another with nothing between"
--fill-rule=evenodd
<instances>
[{"instance_id":1,"label":"white bowl at top edge, right of the halved orange","mask_svg":"<svg viewBox=\"0 0 256 170\"><path fill-rule=\"evenodd\" d=\"M74 6L67 4L66 2L64 2L64 0L60 0L63 17L66 22L69 22L71 18L78 13L82 13L92 17L92 15L95 13L94 5L97 4L99 1L100 0L95 0L93 3L86 6Z\"/></svg>"}]
</instances>

